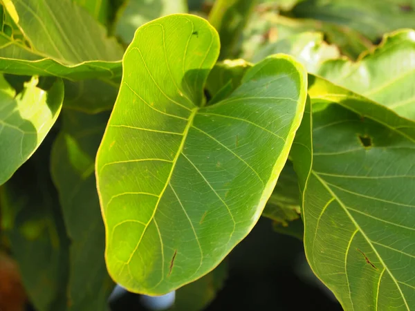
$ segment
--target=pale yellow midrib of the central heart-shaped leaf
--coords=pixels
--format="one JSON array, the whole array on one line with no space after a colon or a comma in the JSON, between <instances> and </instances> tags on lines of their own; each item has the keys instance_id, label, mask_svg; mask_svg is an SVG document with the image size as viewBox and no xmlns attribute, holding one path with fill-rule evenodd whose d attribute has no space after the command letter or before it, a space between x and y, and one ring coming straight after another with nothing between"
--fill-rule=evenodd
<instances>
[{"instance_id":1,"label":"pale yellow midrib of the central heart-shaped leaf","mask_svg":"<svg viewBox=\"0 0 415 311\"><path fill-rule=\"evenodd\" d=\"M138 247L140 246L140 243L142 241L143 236L145 236L145 232L147 231L147 228L149 227L149 224L151 223L151 220L154 220L154 216L156 215L156 211L157 211L158 205L160 204L160 200L161 200L161 198L163 198L163 194L165 193L165 191L166 191L166 189L169 185L169 182L172 179L174 168L176 167L178 158L179 158L179 156L181 155L181 153L183 151L183 147L185 146L187 134L189 133L189 130L192 127L194 117L195 117L195 115L198 111L199 111L199 107L196 107L196 108L192 109L192 113L190 114L189 119L188 119L187 124L186 124L186 127L185 127L185 130L183 131L183 138L181 140L181 144L178 147L176 156L174 156L172 169L170 170L169 176L167 176L165 186L163 187L162 191L160 192L160 195L158 196L158 200L156 202L156 206L154 207L153 214L151 214L151 217L150 217L149 221L145 225L145 228L142 231L140 239L138 240L138 243L137 243L136 247L134 247L133 252L131 252L131 256L129 256L128 261L126 262L126 265L129 265L129 263L131 262L131 259L133 258L134 254L136 254L136 251L137 251Z\"/></svg>"}]
</instances>

